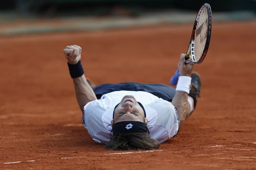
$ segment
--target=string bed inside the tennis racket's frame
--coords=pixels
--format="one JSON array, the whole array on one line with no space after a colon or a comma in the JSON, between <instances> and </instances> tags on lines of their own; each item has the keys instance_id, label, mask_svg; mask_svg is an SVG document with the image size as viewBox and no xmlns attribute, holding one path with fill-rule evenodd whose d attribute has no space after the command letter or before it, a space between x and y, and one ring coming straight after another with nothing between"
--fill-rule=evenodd
<instances>
[{"instance_id":1,"label":"string bed inside the tennis racket's frame","mask_svg":"<svg viewBox=\"0 0 256 170\"><path fill-rule=\"evenodd\" d=\"M207 8L203 7L203 9L201 10L201 13L199 14L199 18L198 18L196 29L195 29L195 40L194 40L195 61L200 60L204 52L205 43L207 39L207 30L208 30L208 12L207 12Z\"/></svg>"}]
</instances>

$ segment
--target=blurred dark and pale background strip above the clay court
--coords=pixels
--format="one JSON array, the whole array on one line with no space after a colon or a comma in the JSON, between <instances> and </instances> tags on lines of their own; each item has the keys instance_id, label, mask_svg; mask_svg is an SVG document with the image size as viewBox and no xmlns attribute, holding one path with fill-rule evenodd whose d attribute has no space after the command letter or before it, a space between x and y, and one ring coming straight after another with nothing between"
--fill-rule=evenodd
<instances>
[{"instance_id":1,"label":"blurred dark and pale background strip above the clay court","mask_svg":"<svg viewBox=\"0 0 256 170\"><path fill-rule=\"evenodd\" d=\"M0 35L194 22L201 4L213 20L249 20L256 0L2 0Z\"/></svg>"}]
</instances>

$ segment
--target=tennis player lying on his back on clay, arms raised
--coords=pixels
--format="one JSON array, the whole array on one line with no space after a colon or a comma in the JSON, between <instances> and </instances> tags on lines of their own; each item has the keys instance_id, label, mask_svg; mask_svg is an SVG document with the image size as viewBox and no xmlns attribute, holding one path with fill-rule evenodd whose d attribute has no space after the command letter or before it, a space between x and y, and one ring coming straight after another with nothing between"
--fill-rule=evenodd
<instances>
[{"instance_id":1,"label":"tennis player lying on his back on clay, arms raised","mask_svg":"<svg viewBox=\"0 0 256 170\"><path fill-rule=\"evenodd\" d=\"M162 84L126 82L95 86L84 76L81 47L66 46L69 73L83 112L82 123L91 138L106 149L155 149L174 137L193 112L201 89L194 63L179 60L179 81L174 89ZM192 81L191 81L192 79Z\"/></svg>"}]
</instances>

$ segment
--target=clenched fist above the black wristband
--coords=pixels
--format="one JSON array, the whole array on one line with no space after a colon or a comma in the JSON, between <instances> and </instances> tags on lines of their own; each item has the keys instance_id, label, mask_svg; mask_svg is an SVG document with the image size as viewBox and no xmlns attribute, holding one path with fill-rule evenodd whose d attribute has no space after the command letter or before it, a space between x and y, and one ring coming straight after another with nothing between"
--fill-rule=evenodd
<instances>
[{"instance_id":1,"label":"clenched fist above the black wristband","mask_svg":"<svg viewBox=\"0 0 256 170\"><path fill-rule=\"evenodd\" d=\"M82 48L77 45L66 46L63 53L70 64L77 64L81 60Z\"/></svg>"}]
</instances>

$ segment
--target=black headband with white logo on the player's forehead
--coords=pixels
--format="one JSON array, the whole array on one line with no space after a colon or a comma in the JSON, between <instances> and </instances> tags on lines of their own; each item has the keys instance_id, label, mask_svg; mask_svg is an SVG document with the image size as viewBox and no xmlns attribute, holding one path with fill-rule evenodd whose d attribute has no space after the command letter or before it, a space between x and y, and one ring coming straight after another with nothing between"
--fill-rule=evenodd
<instances>
[{"instance_id":1,"label":"black headband with white logo on the player's forehead","mask_svg":"<svg viewBox=\"0 0 256 170\"><path fill-rule=\"evenodd\" d=\"M113 135L122 133L149 133L145 123L140 121L121 121L113 124Z\"/></svg>"}]
</instances>

